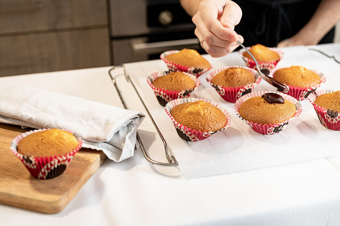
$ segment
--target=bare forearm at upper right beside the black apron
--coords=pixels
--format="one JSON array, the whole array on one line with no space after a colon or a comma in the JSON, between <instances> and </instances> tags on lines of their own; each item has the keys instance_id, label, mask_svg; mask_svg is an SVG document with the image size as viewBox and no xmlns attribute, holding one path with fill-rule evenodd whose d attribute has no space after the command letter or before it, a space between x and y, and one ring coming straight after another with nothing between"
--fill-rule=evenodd
<instances>
[{"instance_id":1,"label":"bare forearm at upper right beside the black apron","mask_svg":"<svg viewBox=\"0 0 340 226\"><path fill-rule=\"evenodd\" d=\"M308 23L296 33L302 45L316 45L340 20L340 1L323 0Z\"/></svg>"}]
</instances>

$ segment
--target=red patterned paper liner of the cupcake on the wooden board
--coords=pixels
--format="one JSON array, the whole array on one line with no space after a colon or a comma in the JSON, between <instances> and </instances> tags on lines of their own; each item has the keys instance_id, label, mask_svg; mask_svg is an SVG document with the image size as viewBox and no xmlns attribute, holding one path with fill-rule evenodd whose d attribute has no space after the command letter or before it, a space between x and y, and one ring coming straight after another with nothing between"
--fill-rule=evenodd
<instances>
[{"instance_id":1,"label":"red patterned paper liner of the cupcake on the wooden board","mask_svg":"<svg viewBox=\"0 0 340 226\"><path fill-rule=\"evenodd\" d=\"M48 157L36 157L36 156L26 156L18 153L17 147L22 138L27 137L30 134L46 131L47 129L36 129L26 133L22 133L15 137L11 143L11 151L15 154L31 173L31 175L38 179L51 179L56 176L61 175L70 161L72 160L75 153L77 153L82 146L81 139L78 140L78 147L66 155L59 156L48 156ZM72 133L71 131L65 130Z\"/></svg>"}]
</instances>

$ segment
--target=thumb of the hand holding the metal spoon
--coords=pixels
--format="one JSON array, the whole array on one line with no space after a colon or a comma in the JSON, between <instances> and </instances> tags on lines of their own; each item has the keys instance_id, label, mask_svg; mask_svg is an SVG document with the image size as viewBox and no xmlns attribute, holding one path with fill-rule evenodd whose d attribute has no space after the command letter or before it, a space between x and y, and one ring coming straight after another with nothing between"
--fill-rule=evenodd
<instances>
[{"instance_id":1,"label":"thumb of the hand holding the metal spoon","mask_svg":"<svg viewBox=\"0 0 340 226\"><path fill-rule=\"evenodd\" d=\"M224 6L220 22L225 28L233 29L237 25L242 17L242 10L233 1L227 1Z\"/></svg>"}]
</instances>

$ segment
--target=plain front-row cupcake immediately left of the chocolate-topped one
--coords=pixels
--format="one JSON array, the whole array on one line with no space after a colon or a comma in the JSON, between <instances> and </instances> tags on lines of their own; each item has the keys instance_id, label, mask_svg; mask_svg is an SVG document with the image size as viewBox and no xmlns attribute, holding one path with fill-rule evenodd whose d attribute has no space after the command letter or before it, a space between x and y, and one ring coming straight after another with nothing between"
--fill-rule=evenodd
<instances>
[{"instance_id":1,"label":"plain front-row cupcake immediately left of the chocolate-topped one","mask_svg":"<svg viewBox=\"0 0 340 226\"><path fill-rule=\"evenodd\" d=\"M179 137L186 141L204 140L226 129L231 123L231 117L225 108L199 98L170 101L165 106L165 112L173 122Z\"/></svg>"}]
</instances>

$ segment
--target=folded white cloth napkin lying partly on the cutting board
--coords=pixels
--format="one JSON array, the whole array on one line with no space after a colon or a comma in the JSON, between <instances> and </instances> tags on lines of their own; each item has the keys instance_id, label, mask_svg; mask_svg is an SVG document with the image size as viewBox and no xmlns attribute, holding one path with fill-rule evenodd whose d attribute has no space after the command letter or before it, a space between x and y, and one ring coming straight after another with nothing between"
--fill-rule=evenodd
<instances>
[{"instance_id":1,"label":"folded white cloth napkin lying partly on the cutting board","mask_svg":"<svg viewBox=\"0 0 340 226\"><path fill-rule=\"evenodd\" d=\"M102 150L116 162L133 156L141 112L32 86L0 90L0 122L32 128L68 129L83 147Z\"/></svg>"}]
</instances>

